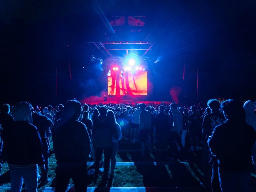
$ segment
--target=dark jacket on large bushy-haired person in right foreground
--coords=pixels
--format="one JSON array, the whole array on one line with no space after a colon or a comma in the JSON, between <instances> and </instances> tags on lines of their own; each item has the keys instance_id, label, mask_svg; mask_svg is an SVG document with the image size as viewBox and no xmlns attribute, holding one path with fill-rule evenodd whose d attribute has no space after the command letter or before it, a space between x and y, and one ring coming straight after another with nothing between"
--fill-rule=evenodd
<instances>
[{"instance_id":1,"label":"dark jacket on large bushy-haired person in right foreground","mask_svg":"<svg viewBox=\"0 0 256 192\"><path fill-rule=\"evenodd\" d=\"M251 170L251 149L256 132L245 122L227 120L215 127L208 141L219 167L230 172Z\"/></svg>"}]
</instances>

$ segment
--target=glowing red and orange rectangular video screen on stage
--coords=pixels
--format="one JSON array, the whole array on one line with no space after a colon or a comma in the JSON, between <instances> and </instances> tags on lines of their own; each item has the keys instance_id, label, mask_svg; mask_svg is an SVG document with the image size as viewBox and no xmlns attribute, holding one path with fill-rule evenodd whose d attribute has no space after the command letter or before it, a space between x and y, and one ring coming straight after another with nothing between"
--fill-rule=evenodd
<instances>
[{"instance_id":1,"label":"glowing red and orange rectangular video screen on stage","mask_svg":"<svg viewBox=\"0 0 256 192\"><path fill-rule=\"evenodd\" d=\"M146 71L108 73L108 95L147 95Z\"/></svg>"}]
</instances>

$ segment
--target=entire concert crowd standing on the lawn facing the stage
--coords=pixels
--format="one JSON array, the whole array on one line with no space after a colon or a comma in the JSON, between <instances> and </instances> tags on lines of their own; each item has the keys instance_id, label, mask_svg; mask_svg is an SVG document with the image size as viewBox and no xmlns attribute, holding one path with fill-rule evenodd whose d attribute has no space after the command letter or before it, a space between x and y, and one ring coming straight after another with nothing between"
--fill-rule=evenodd
<instances>
[{"instance_id":1,"label":"entire concert crowd standing on the lawn facing the stage","mask_svg":"<svg viewBox=\"0 0 256 192\"><path fill-rule=\"evenodd\" d=\"M166 158L186 160L202 150L203 185L211 191L248 191L256 157L256 114L252 101L211 99L207 107L177 103L84 104L34 108L21 102L1 106L1 161L7 161L11 191L36 191L48 181L52 136L57 160L55 191L87 187L87 161L95 159L94 183L104 153L103 182L114 177L118 142L141 143L141 156L156 150ZM111 162L111 163L110 163ZM255 164L254 168L256 170ZM110 169L110 171L109 171ZM110 173L109 173L110 172Z\"/></svg>"}]
</instances>

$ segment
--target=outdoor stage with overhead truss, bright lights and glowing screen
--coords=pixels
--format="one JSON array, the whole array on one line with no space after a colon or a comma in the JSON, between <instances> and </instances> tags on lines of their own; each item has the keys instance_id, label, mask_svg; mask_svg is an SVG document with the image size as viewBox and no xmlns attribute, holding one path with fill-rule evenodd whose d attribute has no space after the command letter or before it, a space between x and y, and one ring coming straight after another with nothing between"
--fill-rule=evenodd
<instances>
[{"instance_id":1,"label":"outdoor stage with overhead truss, bright lights and glowing screen","mask_svg":"<svg viewBox=\"0 0 256 192\"><path fill-rule=\"evenodd\" d=\"M90 60L90 63L102 64L101 79L106 89L99 99L107 95L107 102L147 100L152 89L150 65L157 62L149 57L154 42L108 41L88 44L94 45L96 50L105 55L105 58L91 56ZM83 101L91 103L99 99L92 97L84 98Z\"/></svg>"}]
</instances>

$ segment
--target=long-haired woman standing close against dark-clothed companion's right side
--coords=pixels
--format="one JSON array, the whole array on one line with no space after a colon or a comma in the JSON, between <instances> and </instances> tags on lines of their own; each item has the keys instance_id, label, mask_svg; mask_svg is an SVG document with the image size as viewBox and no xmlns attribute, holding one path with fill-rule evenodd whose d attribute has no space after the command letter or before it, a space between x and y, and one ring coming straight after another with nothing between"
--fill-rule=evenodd
<instances>
[{"instance_id":1,"label":"long-haired woman standing close against dark-clothed companion's right side","mask_svg":"<svg viewBox=\"0 0 256 192\"><path fill-rule=\"evenodd\" d=\"M110 177L113 178L116 167L116 152L118 149L118 141L121 140L122 138L122 132L120 125L116 122L116 118L113 111L107 112L107 121L112 132L112 155Z\"/></svg>"}]
</instances>

